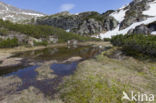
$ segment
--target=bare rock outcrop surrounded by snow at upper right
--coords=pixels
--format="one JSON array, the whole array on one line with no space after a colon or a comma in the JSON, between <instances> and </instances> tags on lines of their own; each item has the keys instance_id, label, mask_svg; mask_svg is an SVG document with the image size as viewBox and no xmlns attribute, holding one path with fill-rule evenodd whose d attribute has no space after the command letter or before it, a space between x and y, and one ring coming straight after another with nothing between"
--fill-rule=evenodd
<instances>
[{"instance_id":1,"label":"bare rock outcrop surrounded by snow at upper right","mask_svg":"<svg viewBox=\"0 0 156 103\"><path fill-rule=\"evenodd\" d=\"M148 16L143 15L142 12L149 9L149 5L147 5L149 1L153 0L133 0L127 7L125 7L124 9L127 9L127 12L125 19L120 25L120 30L127 28L135 22L146 20Z\"/></svg>"}]
</instances>

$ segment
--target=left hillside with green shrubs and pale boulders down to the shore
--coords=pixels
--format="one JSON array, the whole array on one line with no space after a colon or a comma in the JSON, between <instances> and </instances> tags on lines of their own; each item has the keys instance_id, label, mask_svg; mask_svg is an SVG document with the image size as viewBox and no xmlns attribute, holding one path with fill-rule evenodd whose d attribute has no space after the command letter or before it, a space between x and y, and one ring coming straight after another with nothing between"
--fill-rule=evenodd
<instances>
[{"instance_id":1,"label":"left hillside with green shrubs and pale boulders down to the shore","mask_svg":"<svg viewBox=\"0 0 156 103\"><path fill-rule=\"evenodd\" d=\"M16 24L0 20L0 40L0 48L7 48L19 45L48 45L68 40L90 41L98 39L80 36L52 26Z\"/></svg>"}]
</instances>

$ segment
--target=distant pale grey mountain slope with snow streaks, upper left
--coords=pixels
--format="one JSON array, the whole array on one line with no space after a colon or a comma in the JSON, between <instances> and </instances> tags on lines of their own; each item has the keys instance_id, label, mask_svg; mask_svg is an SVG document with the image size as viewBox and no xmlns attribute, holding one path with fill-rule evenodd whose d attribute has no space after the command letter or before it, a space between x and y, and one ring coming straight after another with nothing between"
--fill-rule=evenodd
<instances>
[{"instance_id":1,"label":"distant pale grey mountain slope with snow streaks, upper left","mask_svg":"<svg viewBox=\"0 0 156 103\"><path fill-rule=\"evenodd\" d=\"M0 18L3 20L10 20L12 22L19 22L24 20L30 20L32 18L45 16L42 13L22 10L11 5L0 2Z\"/></svg>"}]
</instances>

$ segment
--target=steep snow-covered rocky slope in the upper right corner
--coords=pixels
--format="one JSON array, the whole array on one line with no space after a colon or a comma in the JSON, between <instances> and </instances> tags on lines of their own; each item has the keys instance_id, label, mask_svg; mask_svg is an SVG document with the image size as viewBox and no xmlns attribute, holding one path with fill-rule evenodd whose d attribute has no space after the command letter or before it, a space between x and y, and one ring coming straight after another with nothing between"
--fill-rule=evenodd
<instances>
[{"instance_id":1,"label":"steep snow-covered rocky slope in the upper right corner","mask_svg":"<svg viewBox=\"0 0 156 103\"><path fill-rule=\"evenodd\" d=\"M114 30L101 33L100 38L111 38L114 35L127 34L140 25L145 25L148 28L148 25L152 23L152 29L149 28L149 30L151 34L155 34L155 10L156 0L134 0L129 5L110 14L110 16L113 16L119 22L119 24Z\"/></svg>"}]
</instances>

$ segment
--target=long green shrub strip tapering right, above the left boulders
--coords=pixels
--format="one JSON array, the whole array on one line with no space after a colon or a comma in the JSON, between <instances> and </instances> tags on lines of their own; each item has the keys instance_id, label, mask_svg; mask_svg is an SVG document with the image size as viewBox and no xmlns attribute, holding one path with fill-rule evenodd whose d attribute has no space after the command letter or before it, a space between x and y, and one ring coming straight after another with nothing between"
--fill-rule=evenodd
<instances>
[{"instance_id":1,"label":"long green shrub strip tapering right, above the left boulders","mask_svg":"<svg viewBox=\"0 0 156 103\"><path fill-rule=\"evenodd\" d=\"M49 36L55 35L58 37L60 42L66 42L71 39L79 41L99 40L96 38L84 37L71 32L66 32L63 29L47 25L14 24L10 21L0 20L0 28L5 28L0 30L3 35L7 34L8 31L19 32L34 38L48 38Z\"/></svg>"}]
</instances>

